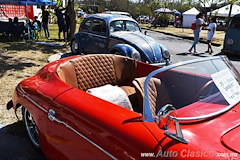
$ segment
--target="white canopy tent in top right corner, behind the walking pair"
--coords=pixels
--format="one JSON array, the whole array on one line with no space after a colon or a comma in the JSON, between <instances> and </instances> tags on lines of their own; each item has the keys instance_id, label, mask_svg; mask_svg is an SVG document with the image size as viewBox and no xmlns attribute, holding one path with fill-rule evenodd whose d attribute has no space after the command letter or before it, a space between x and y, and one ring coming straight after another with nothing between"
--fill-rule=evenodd
<instances>
[{"instance_id":1,"label":"white canopy tent in top right corner, behind the walking pair","mask_svg":"<svg viewBox=\"0 0 240 160\"><path fill-rule=\"evenodd\" d=\"M211 15L217 16L217 17L228 17L229 10L230 10L230 4L212 11ZM234 4L232 6L231 17L233 17L234 15L239 14L239 13L240 13L240 6ZM210 15L210 12L208 12L208 15Z\"/></svg>"}]
</instances>

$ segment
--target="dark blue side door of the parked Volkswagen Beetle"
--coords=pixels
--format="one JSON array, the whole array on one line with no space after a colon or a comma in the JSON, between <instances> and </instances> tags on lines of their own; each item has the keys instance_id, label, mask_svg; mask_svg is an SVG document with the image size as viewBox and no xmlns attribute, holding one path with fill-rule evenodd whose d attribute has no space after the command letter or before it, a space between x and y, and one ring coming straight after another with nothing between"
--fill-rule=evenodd
<instances>
[{"instance_id":1,"label":"dark blue side door of the parked Volkswagen Beetle","mask_svg":"<svg viewBox=\"0 0 240 160\"><path fill-rule=\"evenodd\" d=\"M87 36L86 53L107 53L107 28L104 20L93 19Z\"/></svg>"}]
</instances>

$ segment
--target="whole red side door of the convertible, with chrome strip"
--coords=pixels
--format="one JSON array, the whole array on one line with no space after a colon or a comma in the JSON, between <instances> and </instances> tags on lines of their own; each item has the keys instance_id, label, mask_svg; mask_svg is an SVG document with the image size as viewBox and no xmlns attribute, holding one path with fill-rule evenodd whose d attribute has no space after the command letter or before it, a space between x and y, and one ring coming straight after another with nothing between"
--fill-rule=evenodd
<instances>
[{"instance_id":1,"label":"whole red side door of the convertible, with chrome strip","mask_svg":"<svg viewBox=\"0 0 240 160\"><path fill-rule=\"evenodd\" d=\"M53 121L44 132L53 146L49 156L57 150L63 159L140 158L140 152L153 151L157 141L139 116L76 88L64 92L49 109Z\"/></svg>"}]
</instances>

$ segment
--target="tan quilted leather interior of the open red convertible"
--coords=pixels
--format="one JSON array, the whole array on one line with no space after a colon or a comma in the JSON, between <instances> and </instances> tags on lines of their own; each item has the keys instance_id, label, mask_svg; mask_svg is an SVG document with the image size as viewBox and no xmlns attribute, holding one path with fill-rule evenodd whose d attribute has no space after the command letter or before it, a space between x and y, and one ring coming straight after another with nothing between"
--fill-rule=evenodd
<instances>
[{"instance_id":1,"label":"tan quilted leather interior of the open red convertible","mask_svg":"<svg viewBox=\"0 0 240 160\"><path fill-rule=\"evenodd\" d=\"M133 111L142 113L144 81L154 69L146 68L151 65L139 64L141 63L119 55L85 55L60 65L57 74L65 83L86 92L109 84L117 86L126 93ZM179 109L194 103L194 99L198 100L198 97L195 98L197 91L210 80L209 77L174 70L156 77L151 78L148 86L150 107L154 115L166 104L173 104ZM209 89L204 88L202 92L209 92ZM110 95L115 93L114 90Z\"/></svg>"}]
</instances>

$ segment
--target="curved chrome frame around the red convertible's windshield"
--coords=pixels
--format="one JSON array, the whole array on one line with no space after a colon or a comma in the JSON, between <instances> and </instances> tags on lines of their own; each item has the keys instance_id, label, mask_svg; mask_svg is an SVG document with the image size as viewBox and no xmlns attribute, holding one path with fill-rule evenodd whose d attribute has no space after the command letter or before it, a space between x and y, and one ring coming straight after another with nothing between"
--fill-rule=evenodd
<instances>
[{"instance_id":1,"label":"curved chrome frame around the red convertible's windshield","mask_svg":"<svg viewBox=\"0 0 240 160\"><path fill-rule=\"evenodd\" d=\"M163 68L160 68L160 69L157 69L157 70L151 72L147 76L147 78L144 82L143 121L144 122L154 122L154 118L153 118L153 115L152 115L152 112L151 112L151 109L150 109L150 103L149 103L148 82L150 81L150 79L155 74L160 73L160 72L164 72L166 70L176 68L176 67L179 67L179 66L182 66L182 65L186 65L186 64L203 62L203 61L208 61L208 60L215 60L215 59L225 59L225 58L226 58L226 56L215 56L215 57L208 57L208 58L193 59L193 60L189 60L189 61L185 61L185 62L179 62L179 63L176 63L176 64L172 64L172 65L169 65L169 66L166 66L166 67L163 67ZM173 117L173 118L177 119L178 121L194 121L194 120L206 119L206 118L210 118L210 117L213 117L213 116L217 116L219 114L222 114L222 113L230 110L235 105L237 105L239 102L237 102L235 104L232 104L232 105L229 105L228 107L226 107L226 108L224 108L220 111L217 111L217 112L214 112L214 113L211 113L211 114L208 114L208 115L203 115L203 116L198 116L198 117L179 117L179 118Z\"/></svg>"}]
</instances>

